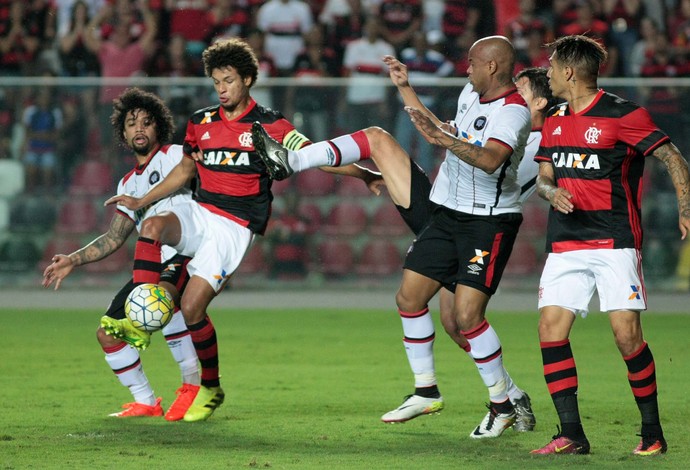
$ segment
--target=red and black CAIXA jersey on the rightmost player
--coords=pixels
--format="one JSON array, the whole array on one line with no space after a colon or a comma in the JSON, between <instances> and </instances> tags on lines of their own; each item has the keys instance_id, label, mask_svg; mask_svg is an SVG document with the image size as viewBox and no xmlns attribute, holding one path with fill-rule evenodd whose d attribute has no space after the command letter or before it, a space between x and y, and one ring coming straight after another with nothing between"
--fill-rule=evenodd
<instances>
[{"instance_id":1,"label":"red and black CAIXA jersey on the rightmost player","mask_svg":"<svg viewBox=\"0 0 690 470\"><path fill-rule=\"evenodd\" d=\"M603 90L579 113L555 106L534 159L553 164L575 210L550 211L546 251L639 249L645 157L668 141L646 109Z\"/></svg>"}]
</instances>

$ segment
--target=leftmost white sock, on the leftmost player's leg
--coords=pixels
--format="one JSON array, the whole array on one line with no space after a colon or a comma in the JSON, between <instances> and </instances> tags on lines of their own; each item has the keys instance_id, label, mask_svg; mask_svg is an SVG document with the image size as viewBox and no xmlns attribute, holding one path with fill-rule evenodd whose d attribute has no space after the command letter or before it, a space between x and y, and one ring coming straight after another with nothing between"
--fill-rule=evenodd
<instances>
[{"instance_id":1,"label":"leftmost white sock, on the leftmost player's leg","mask_svg":"<svg viewBox=\"0 0 690 470\"><path fill-rule=\"evenodd\" d=\"M104 348L104 352L105 361L120 383L129 388L134 401L149 406L155 405L156 397L149 379L144 374L139 352L124 342L113 348Z\"/></svg>"}]
</instances>

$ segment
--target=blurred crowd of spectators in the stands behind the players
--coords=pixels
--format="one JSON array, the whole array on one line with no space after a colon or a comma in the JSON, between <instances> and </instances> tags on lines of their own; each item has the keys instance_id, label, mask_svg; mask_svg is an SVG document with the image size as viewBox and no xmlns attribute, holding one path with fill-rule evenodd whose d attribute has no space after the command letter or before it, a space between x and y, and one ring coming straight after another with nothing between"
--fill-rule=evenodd
<instances>
[{"instance_id":1,"label":"blurred crowd of spectators in the stands behind the players","mask_svg":"<svg viewBox=\"0 0 690 470\"><path fill-rule=\"evenodd\" d=\"M255 49L262 79L385 77L381 57L387 54L405 63L415 80L464 77L469 46L492 34L513 42L516 73L548 66L543 45L554 38L587 34L609 51L602 77L690 76L690 0L0 0L0 70L2 78L17 80L198 78L201 52L219 38L239 36ZM109 123L112 99L123 89L0 86L0 159L22 162L27 194L63 194L87 160L108 163L114 175L131 168ZM427 172L442 159L437 149L410 140L416 133L390 88L296 90L278 86L254 95L314 141L382 125ZM209 90L198 87L151 91L173 111L175 142L190 113L212 102ZM454 90L418 91L439 115L454 112ZM673 87L628 91L686 150L681 110L690 95ZM651 167L657 188L672 193L662 169ZM658 222L663 214L650 219Z\"/></svg>"}]
</instances>

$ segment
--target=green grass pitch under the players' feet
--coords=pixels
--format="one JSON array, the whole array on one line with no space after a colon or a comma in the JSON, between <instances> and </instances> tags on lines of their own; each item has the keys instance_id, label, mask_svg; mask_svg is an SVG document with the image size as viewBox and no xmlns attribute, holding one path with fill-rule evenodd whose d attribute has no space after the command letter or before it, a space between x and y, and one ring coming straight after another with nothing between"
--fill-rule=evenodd
<instances>
[{"instance_id":1,"label":"green grass pitch under the players' feet","mask_svg":"<svg viewBox=\"0 0 690 470\"><path fill-rule=\"evenodd\" d=\"M690 318L647 314L669 453L631 454L639 415L607 317L575 323L588 456L532 456L556 432L541 372L535 313L491 312L505 362L526 389L537 428L475 441L486 389L437 324L436 366L446 409L405 424L380 416L413 383L395 311L213 311L225 404L202 423L109 418L131 401L95 340L100 311L5 310L0 362L0 469L70 468L690 468ZM167 408L179 369L160 333L142 354Z\"/></svg>"}]
</instances>

